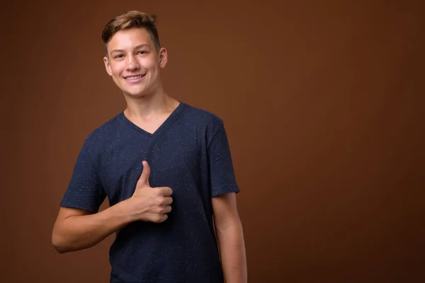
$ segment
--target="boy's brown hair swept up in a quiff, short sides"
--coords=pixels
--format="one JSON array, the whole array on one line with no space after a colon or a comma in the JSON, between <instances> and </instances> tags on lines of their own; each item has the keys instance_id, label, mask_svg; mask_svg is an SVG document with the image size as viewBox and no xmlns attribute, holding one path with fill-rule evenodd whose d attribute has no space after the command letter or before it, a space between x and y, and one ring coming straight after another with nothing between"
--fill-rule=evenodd
<instances>
[{"instance_id":1,"label":"boy's brown hair swept up in a quiff, short sides","mask_svg":"<svg viewBox=\"0 0 425 283\"><path fill-rule=\"evenodd\" d=\"M105 43L105 47L111 40L113 35L120 30L126 30L130 28L145 28L149 33L152 41L154 42L155 48L159 50L161 45L159 43L158 30L155 25L157 16L149 13L142 13L140 11L129 11L123 13L120 16L116 16L106 23L103 28L102 40ZM106 52L108 54L108 52Z\"/></svg>"}]
</instances>

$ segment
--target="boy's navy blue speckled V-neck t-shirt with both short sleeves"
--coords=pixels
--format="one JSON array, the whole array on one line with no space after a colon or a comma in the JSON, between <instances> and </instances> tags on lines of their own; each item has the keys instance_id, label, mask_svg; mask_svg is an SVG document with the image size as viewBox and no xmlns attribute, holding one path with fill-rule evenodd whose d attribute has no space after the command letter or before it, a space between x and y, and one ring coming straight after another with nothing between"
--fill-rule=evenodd
<instances>
[{"instance_id":1,"label":"boy's navy blue speckled V-neck t-shirt with both short sleeves","mask_svg":"<svg viewBox=\"0 0 425 283\"><path fill-rule=\"evenodd\" d=\"M111 282L223 282L211 198L239 192L222 120L180 103L150 134L120 112L91 132L60 203L98 212L132 196L143 166L151 187L171 187L162 223L135 221L116 233Z\"/></svg>"}]
</instances>

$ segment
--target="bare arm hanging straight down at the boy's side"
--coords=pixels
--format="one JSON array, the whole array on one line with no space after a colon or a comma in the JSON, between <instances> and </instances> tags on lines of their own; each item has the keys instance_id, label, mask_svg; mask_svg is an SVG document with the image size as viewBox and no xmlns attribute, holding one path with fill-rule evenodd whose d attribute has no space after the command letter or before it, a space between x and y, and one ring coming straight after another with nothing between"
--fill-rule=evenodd
<instances>
[{"instance_id":1,"label":"bare arm hanging straight down at the boy's side","mask_svg":"<svg viewBox=\"0 0 425 283\"><path fill-rule=\"evenodd\" d=\"M212 197L215 229L227 283L246 283L246 253L234 192Z\"/></svg>"}]
</instances>

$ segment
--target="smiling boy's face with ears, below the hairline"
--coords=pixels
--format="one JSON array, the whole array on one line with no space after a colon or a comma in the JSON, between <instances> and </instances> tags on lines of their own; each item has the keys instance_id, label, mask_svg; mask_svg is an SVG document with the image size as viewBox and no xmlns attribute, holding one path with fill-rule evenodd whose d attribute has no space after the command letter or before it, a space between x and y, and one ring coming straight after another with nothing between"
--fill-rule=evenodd
<instances>
[{"instance_id":1,"label":"smiling boy's face with ears, below the hairline","mask_svg":"<svg viewBox=\"0 0 425 283\"><path fill-rule=\"evenodd\" d=\"M128 96L145 96L159 86L159 68L166 65L166 50L157 50L145 28L120 30L108 42L106 71Z\"/></svg>"}]
</instances>

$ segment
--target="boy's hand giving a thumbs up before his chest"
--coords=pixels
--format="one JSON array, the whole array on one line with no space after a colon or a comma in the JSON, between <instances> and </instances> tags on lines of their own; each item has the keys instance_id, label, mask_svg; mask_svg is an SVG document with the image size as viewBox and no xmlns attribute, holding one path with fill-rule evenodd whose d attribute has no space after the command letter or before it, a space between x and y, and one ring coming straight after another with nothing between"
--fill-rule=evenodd
<instances>
[{"instance_id":1,"label":"boy's hand giving a thumbs up before his chest","mask_svg":"<svg viewBox=\"0 0 425 283\"><path fill-rule=\"evenodd\" d=\"M130 212L135 219L161 223L171 212L173 190L170 187L151 187L149 185L150 167L143 161L143 171L137 181L135 192L130 197Z\"/></svg>"}]
</instances>

